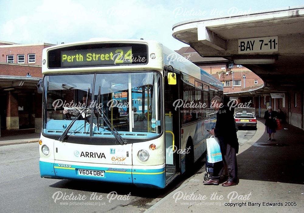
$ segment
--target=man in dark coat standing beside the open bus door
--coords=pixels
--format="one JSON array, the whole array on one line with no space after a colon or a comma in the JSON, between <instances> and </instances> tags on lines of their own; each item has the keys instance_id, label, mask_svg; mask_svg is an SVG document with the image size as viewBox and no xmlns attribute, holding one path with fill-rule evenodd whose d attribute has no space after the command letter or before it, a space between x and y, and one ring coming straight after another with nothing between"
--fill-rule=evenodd
<instances>
[{"instance_id":1,"label":"man in dark coat standing beside the open bus door","mask_svg":"<svg viewBox=\"0 0 304 213\"><path fill-rule=\"evenodd\" d=\"M222 186L233 186L238 183L236 154L239 151L239 143L237 141L233 111L230 110L229 107L223 106L222 102L223 101L219 96L215 96L211 100L213 107L218 112L216 113L215 129L212 129L210 134L215 135L215 137L219 139L223 163L227 165L229 178ZM213 174L210 176L209 180L203 181L204 184L219 184L219 178L224 171L223 163L215 164Z\"/></svg>"}]
</instances>

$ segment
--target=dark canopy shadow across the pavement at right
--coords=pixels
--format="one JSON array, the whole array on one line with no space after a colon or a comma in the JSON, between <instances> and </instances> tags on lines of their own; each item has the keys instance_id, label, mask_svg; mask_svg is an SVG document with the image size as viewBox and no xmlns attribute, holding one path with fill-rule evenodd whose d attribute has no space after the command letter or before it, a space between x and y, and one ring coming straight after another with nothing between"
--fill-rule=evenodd
<instances>
[{"instance_id":1,"label":"dark canopy shadow across the pavement at right","mask_svg":"<svg viewBox=\"0 0 304 213\"><path fill-rule=\"evenodd\" d=\"M289 124L283 128L275 133L276 141L267 140L265 131L237 155L240 179L304 184L304 131Z\"/></svg>"}]
</instances>

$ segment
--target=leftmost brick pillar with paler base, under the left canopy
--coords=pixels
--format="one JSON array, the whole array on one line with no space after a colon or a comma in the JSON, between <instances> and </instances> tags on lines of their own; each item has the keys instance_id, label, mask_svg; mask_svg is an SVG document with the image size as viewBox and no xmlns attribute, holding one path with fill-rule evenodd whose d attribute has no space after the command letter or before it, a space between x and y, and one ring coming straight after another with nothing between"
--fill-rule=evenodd
<instances>
[{"instance_id":1,"label":"leftmost brick pillar with paler base, under the left canopy","mask_svg":"<svg viewBox=\"0 0 304 213\"><path fill-rule=\"evenodd\" d=\"M6 129L19 129L18 94L8 92L6 105Z\"/></svg>"}]
</instances>

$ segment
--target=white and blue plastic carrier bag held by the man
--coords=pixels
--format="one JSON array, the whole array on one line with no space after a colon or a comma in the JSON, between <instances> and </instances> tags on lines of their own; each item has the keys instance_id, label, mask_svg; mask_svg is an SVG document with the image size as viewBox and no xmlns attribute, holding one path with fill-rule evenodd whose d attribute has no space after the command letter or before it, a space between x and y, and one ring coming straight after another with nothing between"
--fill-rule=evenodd
<instances>
[{"instance_id":1,"label":"white and blue plastic carrier bag held by the man","mask_svg":"<svg viewBox=\"0 0 304 213\"><path fill-rule=\"evenodd\" d=\"M207 138L207 161L208 163L216 163L223 161L219 139L211 136Z\"/></svg>"}]
</instances>

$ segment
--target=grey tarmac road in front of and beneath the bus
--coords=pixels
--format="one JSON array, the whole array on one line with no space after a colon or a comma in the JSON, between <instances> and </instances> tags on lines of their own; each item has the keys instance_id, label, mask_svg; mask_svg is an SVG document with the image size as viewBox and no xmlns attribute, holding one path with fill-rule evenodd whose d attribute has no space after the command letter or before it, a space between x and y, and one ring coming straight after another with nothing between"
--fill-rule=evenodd
<instances>
[{"instance_id":1,"label":"grey tarmac road in front of and beneath the bus","mask_svg":"<svg viewBox=\"0 0 304 213\"><path fill-rule=\"evenodd\" d=\"M254 132L239 130L240 144ZM205 171L202 157L192 175L181 176L164 190L46 179L40 178L38 147L37 143L0 147L0 212L144 212Z\"/></svg>"}]
</instances>

